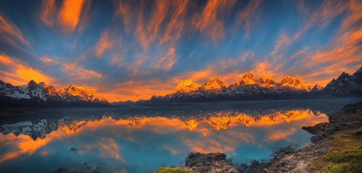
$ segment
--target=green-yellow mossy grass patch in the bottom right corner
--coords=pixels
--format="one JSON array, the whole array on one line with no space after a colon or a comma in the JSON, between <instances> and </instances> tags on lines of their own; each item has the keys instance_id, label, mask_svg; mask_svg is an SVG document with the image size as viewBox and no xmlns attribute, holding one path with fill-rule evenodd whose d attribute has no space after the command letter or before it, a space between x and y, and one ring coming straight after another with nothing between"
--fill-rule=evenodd
<instances>
[{"instance_id":1,"label":"green-yellow mossy grass patch in the bottom right corner","mask_svg":"<svg viewBox=\"0 0 362 173\"><path fill-rule=\"evenodd\" d=\"M362 139L353 135L331 136L332 149L323 160L315 160L310 165L320 168L323 161L328 164L321 168L321 173L361 173L362 172Z\"/></svg>"}]
</instances>

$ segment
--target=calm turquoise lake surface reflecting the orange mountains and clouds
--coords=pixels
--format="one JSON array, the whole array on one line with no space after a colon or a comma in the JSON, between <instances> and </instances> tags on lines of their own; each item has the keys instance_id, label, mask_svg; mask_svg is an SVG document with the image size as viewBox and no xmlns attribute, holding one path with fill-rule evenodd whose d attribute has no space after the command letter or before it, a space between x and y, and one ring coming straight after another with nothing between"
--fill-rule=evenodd
<instances>
[{"instance_id":1,"label":"calm turquoise lake surface reflecting the orange mountains and clouds","mask_svg":"<svg viewBox=\"0 0 362 173\"><path fill-rule=\"evenodd\" d=\"M54 172L59 166L153 172L184 163L191 151L224 152L237 164L265 161L277 148L310 144L311 134L302 126L328 122L341 106L357 101L240 101L12 115L0 124L0 172Z\"/></svg>"}]
</instances>

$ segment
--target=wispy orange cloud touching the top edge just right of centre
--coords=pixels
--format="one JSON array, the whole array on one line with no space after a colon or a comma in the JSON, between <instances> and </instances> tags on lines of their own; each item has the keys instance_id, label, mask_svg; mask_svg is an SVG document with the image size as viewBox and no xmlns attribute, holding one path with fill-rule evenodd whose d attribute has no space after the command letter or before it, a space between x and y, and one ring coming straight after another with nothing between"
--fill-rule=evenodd
<instances>
[{"instance_id":1,"label":"wispy orange cloud touching the top edge just right of centre","mask_svg":"<svg viewBox=\"0 0 362 173\"><path fill-rule=\"evenodd\" d=\"M192 25L209 35L215 44L225 35L223 18L230 12L236 0L209 0L201 14L195 14Z\"/></svg>"}]
</instances>

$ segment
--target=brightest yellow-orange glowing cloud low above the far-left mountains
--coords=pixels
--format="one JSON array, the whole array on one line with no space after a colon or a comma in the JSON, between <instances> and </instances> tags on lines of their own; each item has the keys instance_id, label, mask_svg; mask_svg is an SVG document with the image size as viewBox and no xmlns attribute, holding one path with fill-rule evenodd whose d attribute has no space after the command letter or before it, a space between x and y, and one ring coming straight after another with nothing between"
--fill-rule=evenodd
<instances>
[{"instance_id":1,"label":"brightest yellow-orange glowing cloud low above the far-left mountains","mask_svg":"<svg viewBox=\"0 0 362 173\"><path fill-rule=\"evenodd\" d=\"M0 55L0 63L8 68L0 70L2 80L12 85L27 84L30 80L51 84L54 78L44 75L41 71L29 67L28 64L7 55Z\"/></svg>"}]
</instances>

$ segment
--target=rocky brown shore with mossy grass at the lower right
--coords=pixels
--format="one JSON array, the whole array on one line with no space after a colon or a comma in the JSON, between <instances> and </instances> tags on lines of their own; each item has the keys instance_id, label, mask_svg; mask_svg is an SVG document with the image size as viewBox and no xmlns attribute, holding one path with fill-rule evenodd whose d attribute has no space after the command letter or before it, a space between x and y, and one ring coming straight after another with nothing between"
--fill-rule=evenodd
<instances>
[{"instance_id":1,"label":"rocky brown shore with mossy grass at the lower right","mask_svg":"<svg viewBox=\"0 0 362 173\"><path fill-rule=\"evenodd\" d=\"M298 150L286 146L268 162L233 165L224 153L190 153L182 168L199 173L361 173L362 102L344 106L328 120L302 127L313 135L312 144Z\"/></svg>"}]
</instances>

